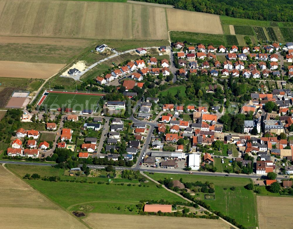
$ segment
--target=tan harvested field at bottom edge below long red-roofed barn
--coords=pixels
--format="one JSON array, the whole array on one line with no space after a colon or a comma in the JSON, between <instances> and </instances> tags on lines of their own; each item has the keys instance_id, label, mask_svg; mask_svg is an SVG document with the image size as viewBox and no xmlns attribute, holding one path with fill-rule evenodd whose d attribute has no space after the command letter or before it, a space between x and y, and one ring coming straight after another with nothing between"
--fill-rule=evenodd
<instances>
[{"instance_id":1,"label":"tan harvested field at bottom edge below long red-roofed barn","mask_svg":"<svg viewBox=\"0 0 293 229\"><path fill-rule=\"evenodd\" d=\"M109 220L115 218L115 220ZM230 229L230 226L222 220L200 219L200 218L179 218L166 216L129 216L129 215L113 215L90 213L83 219L91 228L110 228L110 229L129 229L140 228L169 228L178 229L184 225L185 229Z\"/></svg>"}]
</instances>

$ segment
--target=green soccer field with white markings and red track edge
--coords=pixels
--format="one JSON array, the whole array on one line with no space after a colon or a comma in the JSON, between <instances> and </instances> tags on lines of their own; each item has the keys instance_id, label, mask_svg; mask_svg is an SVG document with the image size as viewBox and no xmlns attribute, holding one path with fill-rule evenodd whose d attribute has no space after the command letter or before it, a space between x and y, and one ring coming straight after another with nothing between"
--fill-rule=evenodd
<instances>
[{"instance_id":1,"label":"green soccer field with white markings and red track edge","mask_svg":"<svg viewBox=\"0 0 293 229\"><path fill-rule=\"evenodd\" d=\"M92 110L97 108L100 95L93 94L67 94L49 92L42 102L42 106L57 110L58 108L71 108L73 111Z\"/></svg>"}]
</instances>

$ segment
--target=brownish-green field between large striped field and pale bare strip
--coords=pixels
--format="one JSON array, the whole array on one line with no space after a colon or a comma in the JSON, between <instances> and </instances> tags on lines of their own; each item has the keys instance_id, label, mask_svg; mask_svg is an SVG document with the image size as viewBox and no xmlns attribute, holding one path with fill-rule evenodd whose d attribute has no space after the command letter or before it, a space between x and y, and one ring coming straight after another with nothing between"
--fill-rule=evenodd
<instances>
[{"instance_id":1,"label":"brownish-green field between large striped field and pale bare strip","mask_svg":"<svg viewBox=\"0 0 293 229\"><path fill-rule=\"evenodd\" d=\"M94 44L91 39L1 36L0 61L65 64Z\"/></svg>"}]
</instances>

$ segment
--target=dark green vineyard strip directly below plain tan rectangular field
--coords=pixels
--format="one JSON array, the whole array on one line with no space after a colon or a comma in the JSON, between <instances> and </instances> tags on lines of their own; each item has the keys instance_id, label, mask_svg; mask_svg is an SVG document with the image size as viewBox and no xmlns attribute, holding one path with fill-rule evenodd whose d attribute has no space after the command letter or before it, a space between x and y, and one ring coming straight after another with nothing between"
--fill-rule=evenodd
<instances>
[{"instance_id":1,"label":"dark green vineyard strip directly below plain tan rectangular field","mask_svg":"<svg viewBox=\"0 0 293 229\"><path fill-rule=\"evenodd\" d=\"M224 35L207 33L170 31L170 39L172 42L187 41L192 43L213 44L216 46L225 44Z\"/></svg>"}]
</instances>

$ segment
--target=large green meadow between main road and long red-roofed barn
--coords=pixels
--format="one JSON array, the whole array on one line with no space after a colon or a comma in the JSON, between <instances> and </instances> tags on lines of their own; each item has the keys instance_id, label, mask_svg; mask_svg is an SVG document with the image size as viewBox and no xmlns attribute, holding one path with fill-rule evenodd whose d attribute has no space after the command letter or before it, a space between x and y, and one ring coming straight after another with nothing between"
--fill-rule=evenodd
<instances>
[{"instance_id":1,"label":"large green meadow between main road and long red-roofed barn","mask_svg":"<svg viewBox=\"0 0 293 229\"><path fill-rule=\"evenodd\" d=\"M76 177L64 176L63 169L44 166L23 166L9 164L7 167L22 177L26 173L38 173L41 176L60 176L61 179L72 180ZM40 168L42 167L42 168ZM181 197L156 187L154 182L144 183L139 187L137 180L130 181L121 178L112 179L115 183L97 184L107 182L108 178L77 177L77 180L95 181L95 183L81 182L49 182L43 180L25 180L35 189L68 210L78 210L80 205L90 205L91 212L137 214L135 205L142 199L165 199L169 201L182 201ZM125 185L118 185L125 183ZM131 183L131 186L127 186ZM133 186L135 185L135 186ZM145 186L145 187L144 187ZM125 207L126 205L126 207ZM130 211L125 208L130 207ZM121 209L121 211L118 210Z\"/></svg>"}]
</instances>

